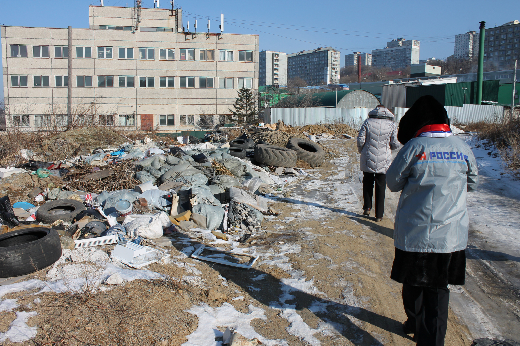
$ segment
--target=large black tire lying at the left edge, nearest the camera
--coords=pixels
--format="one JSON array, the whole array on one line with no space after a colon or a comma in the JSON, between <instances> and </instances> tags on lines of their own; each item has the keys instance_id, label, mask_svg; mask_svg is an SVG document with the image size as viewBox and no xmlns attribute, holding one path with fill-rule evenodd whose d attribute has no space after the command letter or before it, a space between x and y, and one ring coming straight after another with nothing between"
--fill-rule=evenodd
<instances>
[{"instance_id":1,"label":"large black tire lying at the left edge, nearest the camera","mask_svg":"<svg viewBox=\"0 0 520 346\"><path fill-rule=\"evenodd\" d=\"M52 228L24 228L0 235L0 278L34 273L60 257L60 236Z\"/></svg>"}]
</instances>

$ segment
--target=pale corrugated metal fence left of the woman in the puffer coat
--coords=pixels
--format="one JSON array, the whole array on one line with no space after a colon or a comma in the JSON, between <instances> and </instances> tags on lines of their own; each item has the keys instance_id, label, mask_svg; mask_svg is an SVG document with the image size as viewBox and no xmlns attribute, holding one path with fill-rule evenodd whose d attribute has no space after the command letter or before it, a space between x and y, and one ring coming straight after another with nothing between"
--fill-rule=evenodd
<instances>
[{"instance_id":1,"label":"pale corrugated metal fence left of the woman in the puffer coat","mask_svg":"<svg viewBox=\"0 0 520 346\"><path fill-rule=\"evenodd\" d=\"M270 110L270 112L268 112ZM341 123L359 129L368 118L368 108L270 108L266 109L265 122L282 120L286 125Z\"/></svg>"}]
</instances>

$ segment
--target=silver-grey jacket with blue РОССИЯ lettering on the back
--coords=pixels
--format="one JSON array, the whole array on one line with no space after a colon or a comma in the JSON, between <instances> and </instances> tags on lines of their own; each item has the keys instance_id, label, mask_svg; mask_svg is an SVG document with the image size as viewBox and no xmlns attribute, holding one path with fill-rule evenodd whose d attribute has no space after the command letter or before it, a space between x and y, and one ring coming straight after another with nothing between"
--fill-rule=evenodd
<instances>
[{"instance_id":1,"label":"silver-grey jacket with blue \u0420\u041e\u0421\u0421\u0418\u042f lettering on the back","mask_svg":"<svg viewBox=\"0 0 520 346\"><path fill-rule=\"evenodd\" d=\"M402 190L395 215L395 247L431 253L466 248L466 196L478 185L469 145L456 136L411 139L388 168L386 184L391 191Z\"/></svg>"}]
</instances>

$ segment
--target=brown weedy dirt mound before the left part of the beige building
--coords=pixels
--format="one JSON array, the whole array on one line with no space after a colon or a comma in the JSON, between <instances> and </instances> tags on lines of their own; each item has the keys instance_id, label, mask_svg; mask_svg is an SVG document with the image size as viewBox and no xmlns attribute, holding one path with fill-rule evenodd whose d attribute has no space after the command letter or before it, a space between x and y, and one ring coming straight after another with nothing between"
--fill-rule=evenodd
<instances>
[{"instance_id":1,"label":"brown weedy dirt mound before the left part of the beige building","mask_svg":"<svg viewBox=\"0 0 520 346\"><path fill-rule=\"evenodd\" d=\"M129 142L120 134L104 128L84 128L65 131L44 141L36 153L47 160L63 160L67 156L87 155L90 149L107 148Z\"/></svg>"}]
</instances>

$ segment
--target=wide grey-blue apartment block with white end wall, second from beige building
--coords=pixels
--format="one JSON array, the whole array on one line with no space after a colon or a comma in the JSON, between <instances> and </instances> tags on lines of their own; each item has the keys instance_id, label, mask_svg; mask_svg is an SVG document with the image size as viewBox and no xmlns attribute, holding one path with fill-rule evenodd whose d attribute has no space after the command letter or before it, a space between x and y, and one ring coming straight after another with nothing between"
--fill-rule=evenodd
<instances>
[{"instance_id":1,"label":"wide grey-blue apartment block with white end wall, second from beige building","mask_svg":"<svg viewBox=\"0 0 520 346\"><path fill-rule=\"evenodd\" d=\"M307 85L340 82L340 51L332 48L302 50L287 55L288 78L302 78Z\"/></svg>"}]
</instances>

